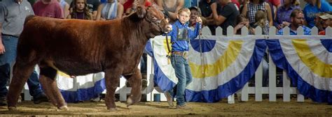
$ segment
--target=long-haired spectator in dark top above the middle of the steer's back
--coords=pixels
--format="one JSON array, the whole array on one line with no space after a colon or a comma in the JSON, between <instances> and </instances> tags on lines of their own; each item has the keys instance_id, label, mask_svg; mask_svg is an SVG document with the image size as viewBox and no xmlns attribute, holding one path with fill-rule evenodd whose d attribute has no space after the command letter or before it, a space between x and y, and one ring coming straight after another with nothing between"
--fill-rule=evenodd
<instances>
[{"instance_id":1,"label":"long-haired spectator in dark top above the middle of the steer's back","mask_svg":"<svg viewBox=\"0 0 332 117\"><path fill-rule=\"evenodd\" d=\"M75 6L67 19L92 20L92 14L86 6L86 0L74 0Z\"/></svg>"}]
</instances>

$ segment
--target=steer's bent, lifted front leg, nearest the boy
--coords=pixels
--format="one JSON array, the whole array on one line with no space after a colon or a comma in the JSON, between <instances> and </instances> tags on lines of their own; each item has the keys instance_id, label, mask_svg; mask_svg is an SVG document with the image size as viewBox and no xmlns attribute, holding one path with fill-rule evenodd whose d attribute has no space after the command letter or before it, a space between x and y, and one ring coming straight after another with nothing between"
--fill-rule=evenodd
<instances>
[{"instance_id":1,"label":"steer's bent, lifted front leg, nearest the boy","mask_svg":"<svg viewBox=\"0 0 332 117\"><path fill-rule=\"evenodd\" d=\"M136 69L132 75L127 75L125 78L130 86L132 86L130 97L127 99L127 107L129 107L141 100L141 72L139 69Z\"/></svg>"}]
</instances>

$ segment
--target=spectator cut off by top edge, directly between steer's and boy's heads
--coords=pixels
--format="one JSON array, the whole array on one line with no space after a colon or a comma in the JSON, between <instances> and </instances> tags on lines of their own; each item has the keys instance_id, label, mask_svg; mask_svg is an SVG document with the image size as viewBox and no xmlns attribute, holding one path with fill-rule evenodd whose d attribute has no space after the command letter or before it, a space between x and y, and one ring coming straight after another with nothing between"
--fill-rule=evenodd
<instances>
[{"instance_id":1,"label":"spectator cut off by top edge, directly between steer's and boy's heads","mask_svg":"<svg viewBox=\"0 0 332 117\"><path fill-rule=\"evenodd\" d=\"M170 18L170 23L177 20L177 12L184 8L184 0L157 0L157 4L162 7L166 17Z\"/></svg>"}]
</instances>

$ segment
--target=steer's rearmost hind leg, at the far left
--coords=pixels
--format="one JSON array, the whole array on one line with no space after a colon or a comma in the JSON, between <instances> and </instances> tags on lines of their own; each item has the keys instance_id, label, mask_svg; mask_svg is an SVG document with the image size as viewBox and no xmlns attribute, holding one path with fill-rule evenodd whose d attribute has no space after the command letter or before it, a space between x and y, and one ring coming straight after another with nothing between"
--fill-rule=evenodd
<instances>
[{"instance_id":1,"label":"steer's rearmost hind leg, at the far left","mask_svg":"<svg viewBox=\"0 0 332 117\"><path fill-rule=\"evenodd\" d=\"M22 61L21 59L16 61L13 68L13 79L9 85L7 102L8 109L15 110L16 104L18 104L18 97L22 91L25 82L32 74L34 70L35 63L28 63L27 61Z\"/></svg>"}]
</instances>

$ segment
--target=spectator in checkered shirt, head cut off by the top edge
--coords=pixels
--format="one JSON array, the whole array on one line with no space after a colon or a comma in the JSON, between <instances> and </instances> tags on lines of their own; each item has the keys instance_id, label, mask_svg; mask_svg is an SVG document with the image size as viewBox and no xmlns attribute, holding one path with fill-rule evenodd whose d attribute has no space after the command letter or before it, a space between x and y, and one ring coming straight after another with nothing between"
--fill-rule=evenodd
<instances>
[{"instance_id":1,"label":"spectator in checkered shirt, head cut off by the top edge","mask_svg":"<svg viewBox=\"0 0 332 117\"><path fill-rule=\"evenodd\" d=\"M272 13L271 8L264 0L250 0L249 3L245 3L242 9L242 15L249 17L249 23L252 26L256 20L255 20L255 14L258 10L263 10L268 13L268 24L272 26L273 19L272 19Z\"/></svg>"}]
</instances>

